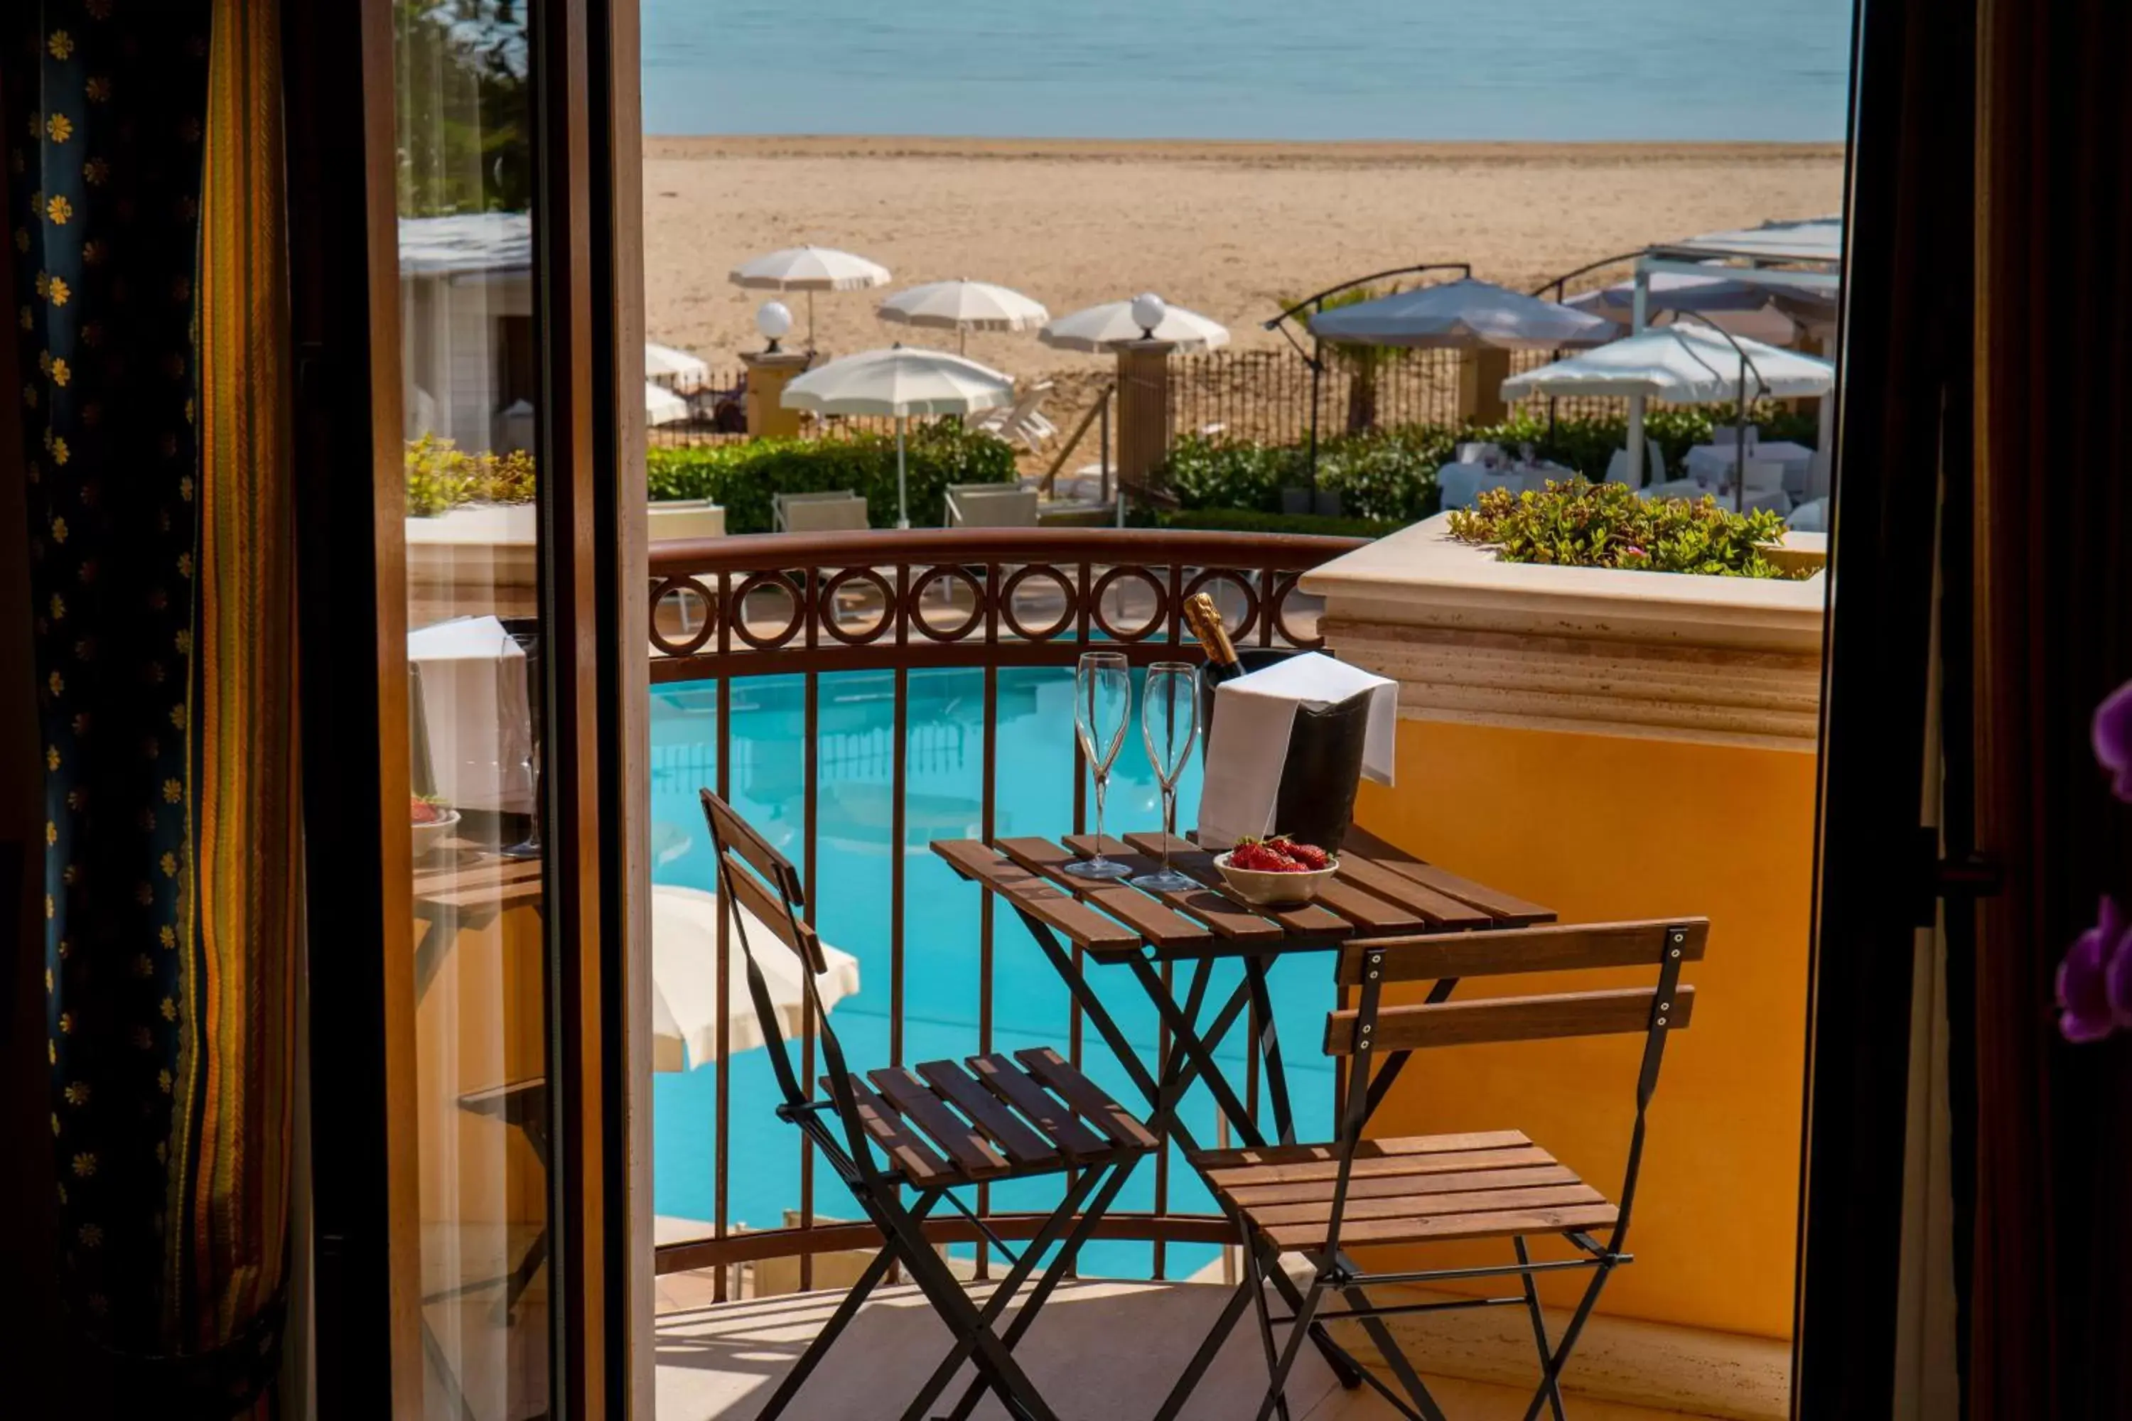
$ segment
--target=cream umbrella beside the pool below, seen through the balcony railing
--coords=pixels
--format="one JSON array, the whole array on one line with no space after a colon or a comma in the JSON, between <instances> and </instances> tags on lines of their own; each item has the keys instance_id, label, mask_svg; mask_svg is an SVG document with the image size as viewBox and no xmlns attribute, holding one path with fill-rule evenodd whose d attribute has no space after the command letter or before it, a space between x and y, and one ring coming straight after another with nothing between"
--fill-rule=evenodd
<instances>
[{"instance_id":1,"label":"cream umbrella beside the pool below, seen through the balcony railing","mask_svg":"<svg viewBox=\"0 0 2132 1421\"><path fill-rule=\"evenodd\" d=\"M652 1069L684 1072L718 1055L718 895L680 884L652 884ZM806 982L800 959L746 908L740 910L755 965L770 984L778 1027L800 1035ZM823 1010L859 991L859 959L823 944L829 971L814 978ZM763 1046L761 1018L748 993L748 959L731 937L727 959L727 1052Z\"/></svg>"}]
</instances>

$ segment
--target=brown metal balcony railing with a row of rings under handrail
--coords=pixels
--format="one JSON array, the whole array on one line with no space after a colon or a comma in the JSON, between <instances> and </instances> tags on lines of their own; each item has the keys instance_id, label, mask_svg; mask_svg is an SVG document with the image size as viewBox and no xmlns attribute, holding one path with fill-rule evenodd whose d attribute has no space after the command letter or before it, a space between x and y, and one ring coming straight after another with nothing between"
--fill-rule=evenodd
<instances>
[{"instance_id":1,"label":"brown metal balcony railing with a row of rings under handrail","mask_svg":"<svg viewBox=\"0 0 2132 1421\"><path fill-rule=\"evenodd\" d=\"M1124 652L1134 665L1183 654L1198 658L1181 622L1181 605L1194 592L1209 592L1224 611L1239 646L1315 648L1318 611L1313 599L1296 590L1301 573L1358 548L1358 539L1162 533L1113 528L957 528L840 535L761 535L701 541L663 541L650 550L650 680L655 686L680 682L716 684L716 754L687 756L663 765L667 773L697 767L718 795L731 795L742 769L733 737L731 684L744 677L802 677L802 822L791 846L810 886L810 914L821 895L812 893L819 856L821 788L846 773L887 778L887 835L906 844L908 775L912 756L940 750L925 735L912 735L910 671L974 669L983 673L983 718L979 729L981 801L976 831L994 833L998 788L998 692L1000 673L1013 667L1072 667L1092 648ZM889 671L893 722L885 737L840 737L823 729L821 677L840 671ZM938 729L934 729L936 733ZM883 744L885 741L885 744ZM955 746L959 750L962 746ZM883 763L885 761L885 763ZM1072 829L1087 816L1085 773L1075 754ZM1066 829L1064 824L1060 829ZM889 854L889 1059L904 1063L904 854ZM970 1050L994 1048L994 903L983 895L979 922L976 1029ZM718 925L721 984L718 1018L729 1018L729 931ZM1256 1033L1256 1023L1251 1027ZM817 1023L804 1023L797 1038L802 1080L814 1078ZM1072 1008L1068 1044L1081 1061L1081 1012ZM1164 1042L1166 1048L1166 1042ZM814 1161L797 1131L800 1199L791 1227L738 1231L731 1219L731 1121L733 1110L772 1110L772 1099L736 1104L725 1040L712 1057L716 1069L716 1123L712 1140L714 1219L710 1238L659 1248L659 1272L716 1268L721 1297L731 1265L768 1259L797 1259L800 1287L812 1287L819 1253L872 1248L870 1225L817 1221ZM1256 1072L1249 1078L1256 1099ZM1134 1238L1153 1244L1153 1274L1164 1276L1164 1244L1228 1242L1228 1225L1211 1214L1168 1208L1168 1150L1156 1159L1153 1208L1111 1212L1102 1238ZM834 1185L834 1182L831 1182ZM846 1208L842 1191L825 1204ZM974 1199L976 1214L1000 1238L1028 1238L1040 1212L991 1210L987 1191ZM957 1216L930 1221L936 1242L979 1242L976 1229ZM987 1251L979 1246L976 1272L985 1276Z\"/></svg>"}]
</instances>

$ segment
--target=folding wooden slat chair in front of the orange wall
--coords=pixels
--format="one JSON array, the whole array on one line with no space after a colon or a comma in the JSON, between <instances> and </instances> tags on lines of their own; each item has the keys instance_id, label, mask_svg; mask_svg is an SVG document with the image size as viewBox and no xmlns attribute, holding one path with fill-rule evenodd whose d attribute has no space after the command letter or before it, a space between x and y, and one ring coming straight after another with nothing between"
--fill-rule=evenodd
<instances>
[{"instance_id":1,"label":"folding wooden slat chair in front of the orange wall","mask_svg":"<svg viewBox=\"0 0 2132 1421\"><path fill-rule=\"evenodd\" d=\"M1303 1351L1313 1321L1341 1317L1386 1317L1443 1308L1524 1304L1533 1319L1539 1353L1539 1387L1524 1408L1535 1421L1548 1406L1563 1419L1561 1374L1590 1319L1608 1276L1631 1263L1625 1251L1635 1176L1644 1161L1644 1121L1659 1084L1665 1038L1689 1025L1695 989L1680 982L1680 967L1703 954L1710 935L1706 918L1676 922L1605 922L1586 927L1529 927L1492 933L1433 937L1382 937L1341 948L1339 984L1356 993L1354 1008L1326 1020L1326 1055L1347 1059L1339 1140L1258 1150L1198 1150L1190 1159L1207 1176L1222 1208L1237 1223L1245 1278L1239 1293L1258 1310L1258 1332L1266 1353L1269 1385L1258 1408L1260 1421L1279 1412L1286 1421L1288 1374ZM1657 986L1622 991L1552 993L1450 1001L1458 978L1490 974L1576 971L1584 967L1657 967ZM1384 1006L1390 982L1433 980L1435 989L1418 1006ZM1629 1133L1629 1167L1620 1199L1610 1202L1533 1144L1522 1131L1497 1129L1463 1136L1418 1136L1407 1140L1364 1140L1371 1112L1399 1078L1407 1057L1433 1046L1480 1042L1537 1042L1565 1035L1642 1033L1644 1057L1635 1078L1635 1125ZM1371 1065L1384 1057L1371 1076ZM1595 1229L1610 1229L1601 1244ZM1450 1240L1507 1238L1514 1261L1424 1272L1360 1272L1341 1255L1350 1244L1433 1244ZM1561 1238L1569 1257L1537 1259L1533 1238ZM1303 1253L1313 1276L1292 1319L1273 1317L1264 1276L1281 1253ZM1533 1276L1541 1272L1590 1270L1590 1285L1571 1312L1558 1342L1548 1340L1546 1317ZM1362 1289L1394 1283L1439 1283L1450 1278L1516 1276L1522 1295L1373 1306ZM1322 1310L1326 1293L1339 1293L1343 1308ZM1239 1306L1224 1319L1234 1325ZM1292 1323L1283 1346L1275 1346L1275 1325ZM1226 1327L1220 1327L1226 1332ZM1209 1346L1217 1342L1209 1336ZM1382 1344L1379 1344L1382 1349ZM1443 1412L1414 1366L1386 1351L1386 1366L1407 1398L1364 1372L1384 1398L1416 1421L1443 1421ZM1411 1402L1411 1404L1409 1404Z\"/></svg>"}]
</instances>

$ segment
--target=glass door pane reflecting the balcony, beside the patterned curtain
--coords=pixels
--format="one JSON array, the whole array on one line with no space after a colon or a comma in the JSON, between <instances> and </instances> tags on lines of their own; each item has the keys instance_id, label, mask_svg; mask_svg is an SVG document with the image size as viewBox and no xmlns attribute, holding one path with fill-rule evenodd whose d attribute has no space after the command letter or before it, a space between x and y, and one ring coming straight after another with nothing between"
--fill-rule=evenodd
<instances>
[{"instance_id":1,"label":"glass door pane reflecting the balcony, beside the patterned curtain","mask_svg":"<svg viewBox=\"0 0 2132 1421\"><path fill-rule=\"evenodd\" d=\"M505 1421L550 1372L529 34L392 15L424 1415Z\"/></svg>"}]
</instances>

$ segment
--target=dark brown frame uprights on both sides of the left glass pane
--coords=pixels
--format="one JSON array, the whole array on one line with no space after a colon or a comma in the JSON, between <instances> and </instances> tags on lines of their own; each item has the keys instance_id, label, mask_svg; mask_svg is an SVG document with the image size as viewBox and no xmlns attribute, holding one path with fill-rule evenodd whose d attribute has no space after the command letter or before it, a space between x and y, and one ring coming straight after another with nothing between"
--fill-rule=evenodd
<instances>
[{"instance_id":1,"label":"dark brown frame uprights on both sides of the left glass pane","mask_svg":"<svg viewBox=\"0 0 2132 1421\"><path fill-rule=\"evenodd\" d=\"M296 518L316 1395L328 1421L420 1417L392 4L284 0L281 21L294 458L311 471ZM631 0L529 6L544 709L550 744L580 748L546 778L550 1404L595 1421L648 1417L652 1376L633 1346L650 1340L650 1255L631 1248L650 1238L635 34Z\"/></svg>"}]
</instances>

